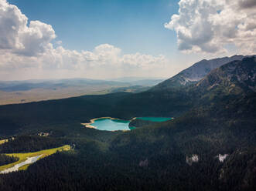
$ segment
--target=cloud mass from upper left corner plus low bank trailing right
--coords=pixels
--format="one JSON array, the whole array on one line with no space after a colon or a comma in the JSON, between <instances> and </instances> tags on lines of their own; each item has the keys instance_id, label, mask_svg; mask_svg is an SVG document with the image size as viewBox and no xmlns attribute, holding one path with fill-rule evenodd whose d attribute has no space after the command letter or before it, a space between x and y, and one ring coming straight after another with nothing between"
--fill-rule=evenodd
<instances>
[{"instance_id":1,"label":"cloud mass from upper left corner plus low bank trailing right","mask_svg":"<svg viewBox=\"0 0 256 191\"><path fill-rule=\"evenodd\" d=\"M62 42L56 41L51 25L28 22L26 15L6 0L0 0L0 34L0 68L6 71L38 68L129 72L161 69L167 62L163 55L123 54L121 49L109 44L98 45L92 51L64 49Z\"/></svg>"}]
</instances>

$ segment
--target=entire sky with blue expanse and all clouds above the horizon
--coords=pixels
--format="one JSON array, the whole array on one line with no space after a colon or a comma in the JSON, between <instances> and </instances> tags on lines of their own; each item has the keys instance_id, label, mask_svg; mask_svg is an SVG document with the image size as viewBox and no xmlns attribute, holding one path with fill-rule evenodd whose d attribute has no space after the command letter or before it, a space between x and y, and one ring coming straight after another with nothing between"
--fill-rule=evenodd
<instances>
[{"instance_id":1,"label":"entire sky with blue expanse and all clouds above the horizon","mask_svg":"<svg viewBox=\"0 0 256 191\"><path fill-rule=\"evenodd\" d=\"M0 80L166 79L256 52L254 0L0 0Z\"/></svg>"}]
</instances>

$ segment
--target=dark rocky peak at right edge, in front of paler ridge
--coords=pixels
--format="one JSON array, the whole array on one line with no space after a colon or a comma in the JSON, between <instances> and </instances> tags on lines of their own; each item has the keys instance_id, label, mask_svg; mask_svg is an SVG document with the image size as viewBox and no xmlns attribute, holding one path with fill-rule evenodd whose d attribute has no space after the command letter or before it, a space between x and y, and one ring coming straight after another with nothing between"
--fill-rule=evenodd
<instances>
[{"instance_id":1,"label":"dark rocky peak at right edge, in front of paler ridge","mask_svg":"<svg viewBox=\"0 0 256 191\"><path fill-rule=\"evenodd\" d=\"M196 84L201 91L221 90L226 93L256 92L256 57L229 62L214 69Z\"/></svg>"}]
</instances>

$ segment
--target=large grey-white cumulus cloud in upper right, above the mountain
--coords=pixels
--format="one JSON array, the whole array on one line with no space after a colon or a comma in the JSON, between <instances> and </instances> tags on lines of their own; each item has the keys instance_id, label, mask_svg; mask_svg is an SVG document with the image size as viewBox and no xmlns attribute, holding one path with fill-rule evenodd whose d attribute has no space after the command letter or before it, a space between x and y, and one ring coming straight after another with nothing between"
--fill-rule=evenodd
<instances>
[{"instance_id":1,"label":"large grey-white cumulus cloud in upper right, above the mountain","mask_svg":"<svg viewBox=\"0 0 256 191\"><path fill-rule=\"evenodd\" d=\"M176 31L183 52L227 52L235 45L240 53L256 52L255 0L180 0L179 14L166 28Z\"/></svg>"}]
</instances>

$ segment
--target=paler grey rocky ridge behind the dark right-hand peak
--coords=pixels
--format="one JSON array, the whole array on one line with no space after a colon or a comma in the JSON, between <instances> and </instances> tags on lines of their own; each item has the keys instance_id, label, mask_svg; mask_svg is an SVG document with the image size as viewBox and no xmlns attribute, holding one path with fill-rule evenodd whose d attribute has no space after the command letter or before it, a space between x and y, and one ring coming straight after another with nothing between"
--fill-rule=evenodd
<instances>
[{"instance_id":1,"label":"paler grey rocky ridge behind the dark right-hand peak","mask_svg":"<svg viewBox=\"0 0 256 191\"><path fill-rule=\"evenodd\" d=\"M155 85L152 90L162 90L176 88L184 85L190 85L199 82L203 79L210 71L219 68L221 65L227 64L234 60L244 59L244 55L234 55L231 57L224 57L219 59L203 59L200 62L196 62L194 65L190 66L188 69L184 69L179 74L167 79L164 82Z\"/></svg>"}]
</instances>

